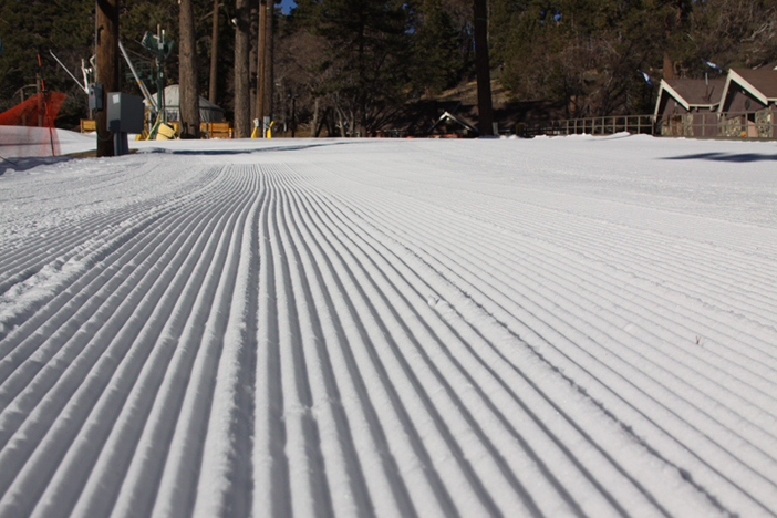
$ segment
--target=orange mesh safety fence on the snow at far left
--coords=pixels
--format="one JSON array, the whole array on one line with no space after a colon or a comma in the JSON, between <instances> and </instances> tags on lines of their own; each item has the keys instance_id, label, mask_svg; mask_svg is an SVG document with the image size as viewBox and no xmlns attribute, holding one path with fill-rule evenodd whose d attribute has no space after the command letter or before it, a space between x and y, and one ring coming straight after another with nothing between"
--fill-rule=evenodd
<instances>
[{"instance_id":1,"label":"orange mesh safety fence on the snow at far left","mask_svg":"<svg viewBox=\"0 0 777 518\"><path fill-rule=\"evenodd\" d=\"M43 92L0 113L0 155L59 155L60 142L54 130L54 118L64 99L63 93Z\"/></svg>"}]
</instances>

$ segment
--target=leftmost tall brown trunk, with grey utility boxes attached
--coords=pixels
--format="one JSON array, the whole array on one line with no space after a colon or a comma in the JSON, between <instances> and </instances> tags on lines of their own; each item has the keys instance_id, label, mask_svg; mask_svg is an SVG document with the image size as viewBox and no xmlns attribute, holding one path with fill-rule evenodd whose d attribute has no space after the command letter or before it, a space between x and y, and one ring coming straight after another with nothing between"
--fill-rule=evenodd
<instances>
[{"instance_id":1,"label":"leftmost tall brown trunk, with grey utility boxes attached","mask_svg":"<svg viewBox=\"0 0 777 518\"><path fill-rule=\"evenodd\" d=\"M103 85L103 110L97 112L97 156L114 156L107 130L107 94L118 92L118 0L97 0L97 83Z\"/></svg>"}]
</instances>

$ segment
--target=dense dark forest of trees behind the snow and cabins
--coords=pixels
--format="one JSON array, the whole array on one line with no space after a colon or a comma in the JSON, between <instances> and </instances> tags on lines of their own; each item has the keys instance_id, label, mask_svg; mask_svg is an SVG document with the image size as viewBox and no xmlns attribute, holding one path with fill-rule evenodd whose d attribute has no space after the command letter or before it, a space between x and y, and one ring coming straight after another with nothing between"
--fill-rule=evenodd
<instances>
[{"instance_id":1,"label":"dense dark forest of trees behind the snow and cabins","mask_svg":"<svg viewBox=\"0 0 777 518\"><path fill-rule=\"evenodd\" d=\"M176 41L168 84L194 83L236 126L256 116L260 0L118 6L121 39L142 69L153 56L141 39L160 27ZM94 10L95 0L0 0L0 111L42 77L68 93L58 125L87 115L85 94L49 51L80 77L94 54ZM515 101L556 102L570 117L651 113L661 77L717 73L703 60L723 69L777 61L777 0L489 0L488 10L491 76ZM473 0L297 0L289 13L273 11L269 110L298 134L363 135L397 106L474 80ZM194 24L186 63L185 18ZM125 72L123 91L138 94Z\"/></svg>"}]
</instances>

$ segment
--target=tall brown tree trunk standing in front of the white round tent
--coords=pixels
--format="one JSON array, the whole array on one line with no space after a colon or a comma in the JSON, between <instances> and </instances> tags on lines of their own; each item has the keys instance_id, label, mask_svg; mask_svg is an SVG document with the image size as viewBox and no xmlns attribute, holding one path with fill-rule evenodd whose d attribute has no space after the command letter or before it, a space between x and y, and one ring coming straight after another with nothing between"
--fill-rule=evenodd
<instances>
[{"instance_id":1,"label":"tall brown tree trunk standing in front of the white round tent","mask_svg":"<svg viewBox=\"0 0 777 518\"><path fill-rule=\"evenodd\" d=\"M197 87L197 48L195 44L194 7L180 0L178 10L180 45L178 46L178 94L182 138L199 138L199 89Z\"/></svg>"}]
</instances>

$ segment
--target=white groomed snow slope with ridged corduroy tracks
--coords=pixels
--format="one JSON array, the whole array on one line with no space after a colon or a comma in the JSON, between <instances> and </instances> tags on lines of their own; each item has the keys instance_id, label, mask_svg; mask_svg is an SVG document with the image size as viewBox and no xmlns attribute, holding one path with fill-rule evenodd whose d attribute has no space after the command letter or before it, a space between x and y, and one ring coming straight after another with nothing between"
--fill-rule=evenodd
<instances>
[{"instance_id":1,"label":"white groomed snow slope with ridged corduroy tracks","mask_svg":"<svg viewBox=\"0 0 777 518\"><path fill-rule=\"evenodd\" d=\"M0 517L777 514L774 143L135 145L0 176Z\"/></svg>"}]
</instances>

